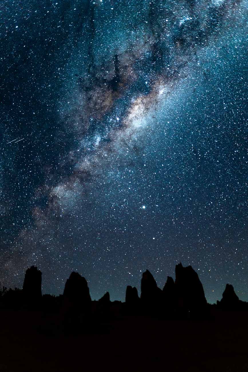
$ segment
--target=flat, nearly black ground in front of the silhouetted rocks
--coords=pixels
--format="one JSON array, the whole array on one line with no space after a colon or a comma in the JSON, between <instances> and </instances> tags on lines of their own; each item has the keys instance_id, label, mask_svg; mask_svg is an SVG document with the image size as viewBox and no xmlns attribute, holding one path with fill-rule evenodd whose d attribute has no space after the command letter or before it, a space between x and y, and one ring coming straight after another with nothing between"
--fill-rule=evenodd
<instances>
[{"instance_id":1,"label":"flat, nearly black ground in front of the silhouetted rocks","mask_svg":"<svg viewBox=\"0 0 248 372\"><path fill-rule=\"evenodd\" d=\"M0 372L248 372L247 312L206 321L117 315L74 335L55 315L0 315Z\"/></svg>"}]
</instances>

